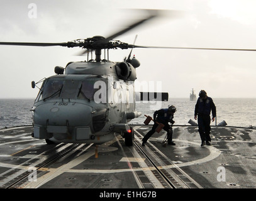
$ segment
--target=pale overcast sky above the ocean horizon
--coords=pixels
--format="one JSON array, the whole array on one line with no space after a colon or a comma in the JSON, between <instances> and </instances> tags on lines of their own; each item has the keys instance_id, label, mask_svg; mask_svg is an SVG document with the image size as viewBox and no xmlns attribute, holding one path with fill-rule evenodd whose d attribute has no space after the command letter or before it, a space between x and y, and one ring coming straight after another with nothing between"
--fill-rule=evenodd
<instances>
[{"instance_id":1,"label":"pale overcast sky above the ocean horizon","mask_svg":"<svg viewBox=\"0 0 256 201\"><path fill-rule=\"evenodd\" d=\"M109 36L164 9L162 16L114 38L135 45L256 49L256 1L249 0L0 0L0 41L61 43ZM33 3L33 4L31 4ZM178 13L178 14L177 14ZM0 99L35 99L31 81L79 57L79 48L0 46ZM130 50L111 50L120 62ZM161 84L170 98L206 90L213 98L256 98L256 52L135 48L137 80Z\"/></svg>"}]
</instances>

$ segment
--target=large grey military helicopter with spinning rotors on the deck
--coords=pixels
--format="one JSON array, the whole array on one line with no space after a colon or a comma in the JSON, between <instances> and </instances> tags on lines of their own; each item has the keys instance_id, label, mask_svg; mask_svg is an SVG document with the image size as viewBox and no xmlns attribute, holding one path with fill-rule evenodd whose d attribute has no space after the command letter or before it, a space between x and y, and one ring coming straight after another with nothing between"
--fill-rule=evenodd
<instances>
[{"instance_id":1,"label":"large grey military helicopter with spinning rotors on the deck","mask_svg":"<svg viewBox=\"0 0 256 201\"><path fill-rule=\"evenodd\" d=\"M157 14L150 14L147 18L106 38L93 36L65 43L0 42L0 45L80 47L85 50L79 55L87 53L87 61L69 62L65 68L57 66L54 69L55 75L38 82L31 82L32 88L42 82L31 109L33 119L31 136L45 139L47 144L101 144L111 141L118 133L125 139L126 146L132 146L134 131L128 122L141 116L141 112L136 111L135 108L136 100L168 100L167 92L135 92L136 68L140 67L140 62L135 57L131 58L133 48L243 50L139 46L135 45L135 42L130 45L114 40L117 36L155 17ZM123 61L111 62L109 50L117 48L131 49L131 52ZM101 58L102 50L104 50L104 59ZM95 54L94 59L92 53ZM90 54L91 59L89 59Z\"/></svg>"}]
</instances>

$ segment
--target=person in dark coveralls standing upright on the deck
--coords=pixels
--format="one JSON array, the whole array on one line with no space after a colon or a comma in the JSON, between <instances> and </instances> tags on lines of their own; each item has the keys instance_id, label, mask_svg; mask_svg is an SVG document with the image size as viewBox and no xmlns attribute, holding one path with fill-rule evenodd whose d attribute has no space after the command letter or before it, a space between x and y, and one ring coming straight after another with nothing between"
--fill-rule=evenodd
<instances>
[{"instance_id":1,"label":"person in dark coveralls standing upright on the deck","mask_svg":"<svg viewBox=\"0 0 256 201\"><path fill-rule=\"evenodd\" d=\"M211 119L210 114L213 114ZM194 119L198 119L198 131L201 137L201 146L211 145L211 137L209 136L211 131L211 121L214 121L216 117L216 107L214 105L213 99L208 97L205 90L199 92L199 98L196 102L194 110Z\"/></svg>"}]
</instances>

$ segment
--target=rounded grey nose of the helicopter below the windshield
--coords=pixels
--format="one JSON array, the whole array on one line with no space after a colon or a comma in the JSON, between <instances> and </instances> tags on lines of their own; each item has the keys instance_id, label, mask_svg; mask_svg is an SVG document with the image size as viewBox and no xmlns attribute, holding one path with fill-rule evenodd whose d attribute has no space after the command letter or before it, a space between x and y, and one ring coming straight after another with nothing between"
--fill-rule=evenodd
<instances>
[{"instance_id":1,"label":"rounded grey nose of the helicopter below the windshield","mask_svg":"<svg viewBox=\"0 0 256 201\"><path fill-rule=\"evenodd\" d=\"M42 126L89 126L92 107L77 103L45 103L36 107L35 124Z\"/></svg>"}]
</instances>

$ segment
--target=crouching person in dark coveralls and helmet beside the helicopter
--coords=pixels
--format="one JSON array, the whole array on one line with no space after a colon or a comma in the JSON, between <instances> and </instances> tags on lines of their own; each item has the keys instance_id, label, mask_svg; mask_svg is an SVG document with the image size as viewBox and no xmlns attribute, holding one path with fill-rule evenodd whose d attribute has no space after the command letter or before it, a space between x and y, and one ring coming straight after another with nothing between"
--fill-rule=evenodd
<instances>
[{"instance_id":1,"label":"crouching person in dark coveralls and helmet beside the helicopter","mask_svg":"<svg viewBox=\"0 0 256 201\"><path fill-rule=\"evenodd\" d=\"M145 143L147 143L147 140L152 136L152 134L155 133L155 129L157 128L157 126L159 126L157 122L164 124L163 129L167 131L168 144L175 145L175 143L172 141L172 131L170 131L170 129L172 128L168 124L168 122L170 122L171 124L174 124L175 121L173 120L173 118L174 118L175 111L176 111L175 106L170 106L169 108L155 111L155 113L153 114L154 124L152 126L152 129L148 131L148 133L142 139L142 146L145 146Z\"/></svg>"}]
</instances>

